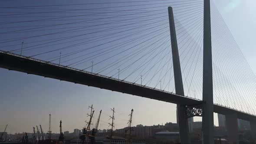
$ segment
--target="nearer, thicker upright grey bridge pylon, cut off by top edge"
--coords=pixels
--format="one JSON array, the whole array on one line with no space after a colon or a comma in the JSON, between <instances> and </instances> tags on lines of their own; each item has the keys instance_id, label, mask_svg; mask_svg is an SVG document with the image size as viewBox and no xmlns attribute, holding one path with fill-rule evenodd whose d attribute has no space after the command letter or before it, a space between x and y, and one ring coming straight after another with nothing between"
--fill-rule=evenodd
<instances>
[{"instance_id":1,"label":"nearer, thicker upright grey bridge pylon, cut off by top edge","mask_svg":"<svg viewBox=\"0 0 256 144\"><path fill-rule=\"evenodd\" d=\"M213 65L210 0L203 0L203 144L213 144Z\"/></svg>"}]
</instances>

